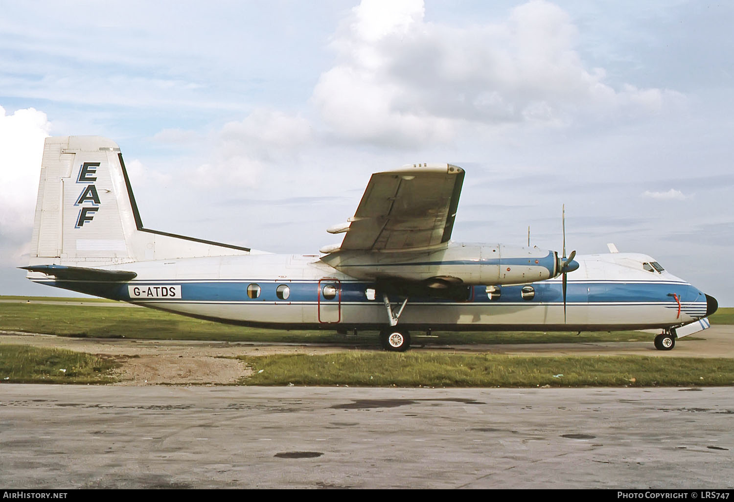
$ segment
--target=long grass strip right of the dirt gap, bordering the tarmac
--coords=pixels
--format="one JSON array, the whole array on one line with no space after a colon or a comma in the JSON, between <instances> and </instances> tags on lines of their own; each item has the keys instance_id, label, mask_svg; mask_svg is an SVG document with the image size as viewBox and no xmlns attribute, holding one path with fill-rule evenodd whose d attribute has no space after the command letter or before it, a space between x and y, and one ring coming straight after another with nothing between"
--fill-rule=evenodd
<instances>
[{"instance_id":1,"label":"long grass strip right of the dirt gap, bordering the tarmac","mask_svg":"<svg viewBox=\"0 0 734 502\"><path fill-rule=\"evenodd\" d=\"M241 356L244 385L366 387L650 387L733 385L734 360L684 357L522 357L348 352Z\"/></svg>"}]
</instances>

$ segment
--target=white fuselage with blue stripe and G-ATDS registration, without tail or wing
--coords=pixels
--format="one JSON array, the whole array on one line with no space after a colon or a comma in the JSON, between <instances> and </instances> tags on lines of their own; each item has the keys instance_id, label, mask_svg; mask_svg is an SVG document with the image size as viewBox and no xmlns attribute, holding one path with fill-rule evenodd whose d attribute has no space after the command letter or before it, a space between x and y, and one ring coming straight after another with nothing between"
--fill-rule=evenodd
<instances>
[{"instance_id":1,"label":"white fuselage with blue stripe and G-ATDS registration, without tail or wing","mask_svg":"<svg viewBox=\"0 0 734 502\"><path fill-rule=\"evenodd\" d=\"M578 255L564 321L560 277L526 285L466 287L462 299L411 297L404 330L645 330L688 324L711 313L707 297L668 272L620 261L645 255ZM104 267L101 267L104 268ZM120 264L110 266L119 269ZM39 283L200 319L280 329L381 330L389 317L379 283L338 272L317 255L241 255L126 263L129 281ZM524 291L523 291L524 289ZM488 290L490 292L488 292ZM524 294L523 294L524 293ZM399 304L404 297L388 294Z\"/></svg>"}]
</instances>

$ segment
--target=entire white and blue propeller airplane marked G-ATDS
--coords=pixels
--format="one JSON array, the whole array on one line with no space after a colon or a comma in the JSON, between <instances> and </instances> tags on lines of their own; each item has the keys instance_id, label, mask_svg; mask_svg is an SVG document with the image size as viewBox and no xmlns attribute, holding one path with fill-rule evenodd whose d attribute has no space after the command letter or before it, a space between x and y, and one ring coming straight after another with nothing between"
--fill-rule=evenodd
<instances>
[{"instance_id":1,"label":"entire white and blue propeller airplane marked G-ATDS","mask_svg":"<svg viewBox=\"0 0 734 502\"><path fill-rule=\"evenodd\" d=\"M280 255L145 228L115 142L50 137L23 269L37 283L228 324L377 330L390 351L431 330L661 330L655 347L669 350L708 327L716 299L647 255L452 242L464 174L377 172L355 215L328 229L345 233L341 244Z\"/></svg>"}]
</instances>

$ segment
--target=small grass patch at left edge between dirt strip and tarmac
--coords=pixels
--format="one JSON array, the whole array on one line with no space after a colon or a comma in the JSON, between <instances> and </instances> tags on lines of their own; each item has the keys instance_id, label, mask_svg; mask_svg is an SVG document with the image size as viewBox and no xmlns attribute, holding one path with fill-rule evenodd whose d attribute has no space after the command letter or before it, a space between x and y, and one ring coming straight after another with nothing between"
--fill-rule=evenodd
<instances>
[{"instance_id":1,"label":"small grass patch at left edge between dirt strip and tarmac","mask_svg":"<svg viewBox=\"0 0 734 502\"><path fill-rule=\"evenodd\" d=\"M83 352L0 345L0 382L91 384L115 381L119 364Z\"/></svg>"}]
</instances>

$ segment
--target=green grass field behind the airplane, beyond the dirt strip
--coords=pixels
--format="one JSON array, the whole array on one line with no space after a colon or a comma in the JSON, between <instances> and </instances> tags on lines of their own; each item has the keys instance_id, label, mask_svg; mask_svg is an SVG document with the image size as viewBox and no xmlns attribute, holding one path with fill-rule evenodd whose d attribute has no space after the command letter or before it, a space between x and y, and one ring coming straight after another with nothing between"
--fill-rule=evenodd
<instances>
[{"instance_id":1,"label":"green grass field behind the airplane, beyond the dirt strip","mask_svg":"<svg viewBox=\"0 0 734 502\"><path fill-rule=\"evenodd\" d=\"M0 297L0 299L29 299ZM34 300L41 300L34 298ZM80 301L81 299L43 298L43 301ZM87 301L84 299L84 301ZM109 300L98 300L109 302ZM731 309L734 311L734 309ZM734 317L734 313L732 314ZM332 330L266 330L201 321L159 310L143 308L97 307L84 305L45 305L40 303L0 303L0 330L37 332L94 338L145 338L156 340L258 341L292 343L344 343L374 346L377 332L357 336L338 335ZM598 341L647 341L653 335L637 331L617 332L433 332L431 338L413 333L413 344L448 345L455 343L573 343Z\"/></svg>"}]
</instances>

